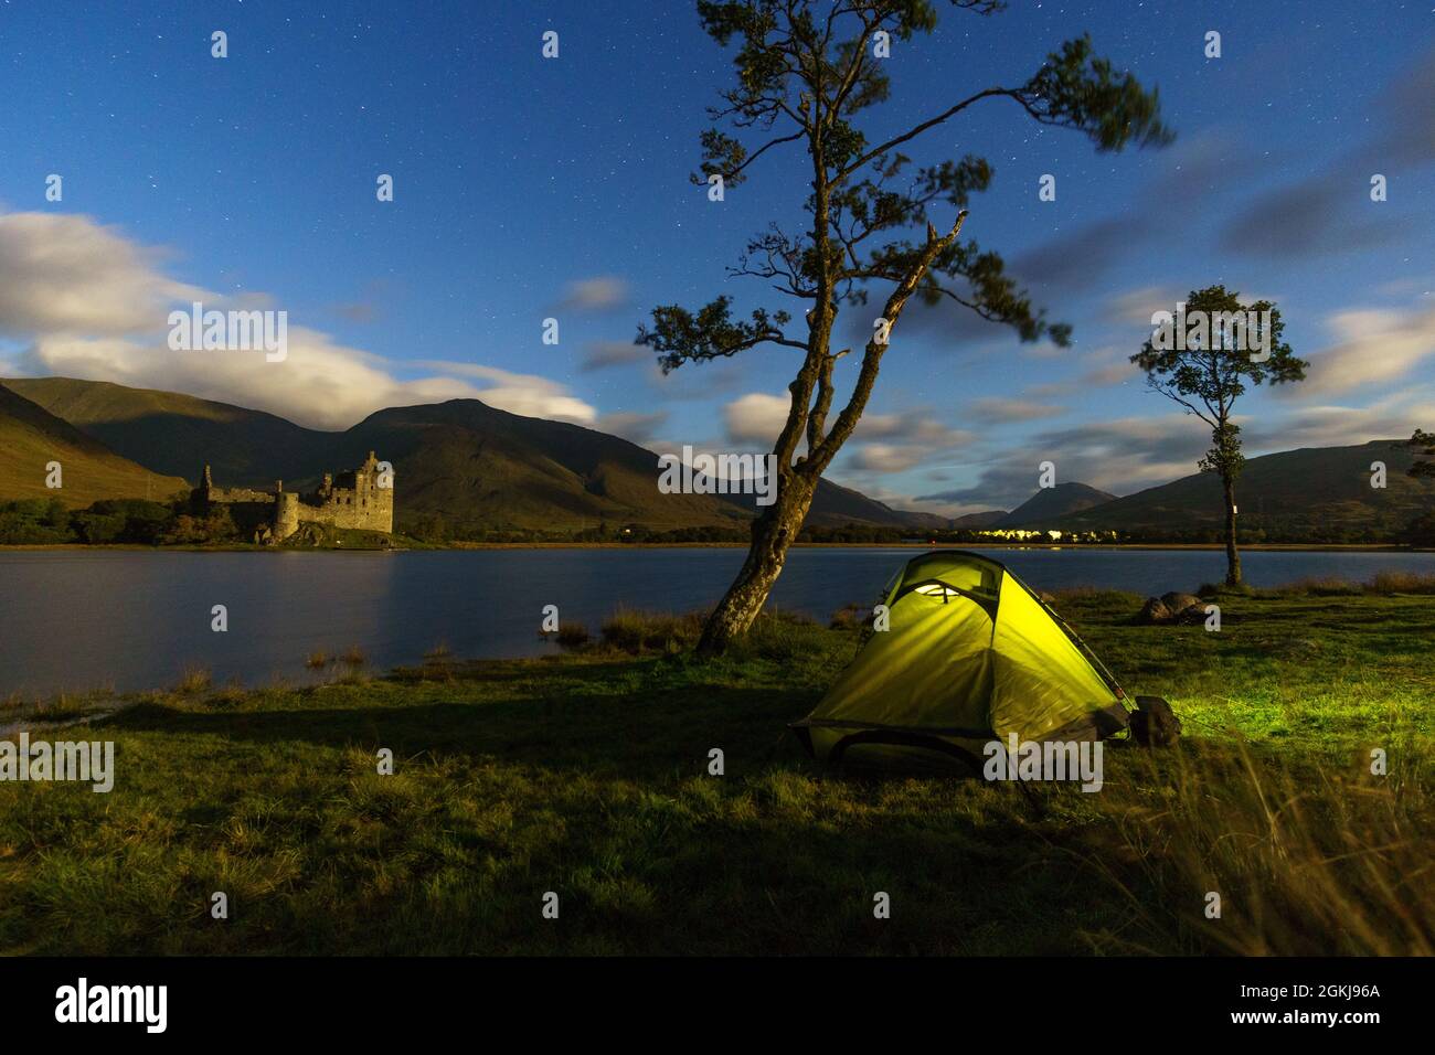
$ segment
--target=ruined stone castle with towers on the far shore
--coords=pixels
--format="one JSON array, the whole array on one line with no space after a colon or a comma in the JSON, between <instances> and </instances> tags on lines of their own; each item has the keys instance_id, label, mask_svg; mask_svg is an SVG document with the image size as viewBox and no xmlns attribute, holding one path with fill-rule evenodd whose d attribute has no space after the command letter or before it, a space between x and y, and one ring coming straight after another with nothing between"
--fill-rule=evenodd
<instances>
[{"instance_id":1,"label":"ruined stone castle with towers on the far shore","mask_svg":"<svg viewBox=\"0 0 1435 1055\"><path fill-rule=\"evenodd\" d=\"M300 524L329 524L337 528L393 533L393 468L373 456L339 477L324 474L317 491L286 491L284 481L274 481L273 491L215 487L210 466L204 466L199 487L191 502L201 512L217 505L230 510L234 522L254 533L255 543L283 543Z\"/></svg>"}]
</instances>

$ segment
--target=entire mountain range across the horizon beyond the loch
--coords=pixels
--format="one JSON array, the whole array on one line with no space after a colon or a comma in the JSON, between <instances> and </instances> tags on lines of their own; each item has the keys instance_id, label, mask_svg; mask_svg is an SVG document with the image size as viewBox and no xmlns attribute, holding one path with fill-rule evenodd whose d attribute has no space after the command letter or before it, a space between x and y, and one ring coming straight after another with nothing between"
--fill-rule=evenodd
<instances>
[{"instance_id":1,"label":"entire mountain range across the horizon beyond the loch","mask_svg":"<svg viewBox=\"0 0 1435 1055\"><path fill-rule=\"evenodd\" d=\"M452 530L573 530L643 524L738 527L751 495L664 495L657 455L580 425L524 418L476 399L389 408L343 432L307 429L263 411L175 392L67 378L0 382L0 498L168 498L197 482L201 466L228 487L290 489L326 471L357 465L369 451L392 461L400 528L442 518ZM65 488L44 487L46 462L63 465ZM1388 466L1372 488L1372 462ZM1241 527L1267 538L1392 538L1435 508L1435 481L1405 475L1413 454L1396 439L1304 448L1251 458L1237 484ZM1170 538L1208 535L1221 524L1220 482L1192 474L1115 498L1085 484L1038 491L1003 514L949 521L894 510L822 481L808 522L862 524L921 533L944 527L1118 530Z\"/></svg>"}]
</instances>

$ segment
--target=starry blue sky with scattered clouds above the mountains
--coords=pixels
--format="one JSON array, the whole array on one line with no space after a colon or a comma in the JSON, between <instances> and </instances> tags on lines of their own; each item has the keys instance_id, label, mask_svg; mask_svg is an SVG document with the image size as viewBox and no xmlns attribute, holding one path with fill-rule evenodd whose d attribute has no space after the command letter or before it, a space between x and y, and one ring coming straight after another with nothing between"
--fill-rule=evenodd
<instances>
[{"instance_id":1,"label":"starry blue sky with scattered clouds above the mountains","mask_svg":"<svg viewBox=\"0 0 1435 1055\"><path fill-rule=\"evenodd\" d=\"M541 56L548 29L557 59ZM1215 281L1276 299L1313 363L1241 405L1253 454L1435 425L1429 3L943 10L934 36L894 44L870 138L1019 83L1088 30L1159 88L1175 145L1098 155L994 100L911 151L992 161L964 234L1006 255L1075 346L908 313L829 475L961 512L1020 501L1042 461L1118 494L1194 471L1208 436L1126 357L1151 311ZM801 220L802 158L768 155L720 204L687 182L729 79L682 0L0 0L0 372L175 388L320 428L476 395L657 451L759 449L795 353L664 379L627 347L656 304L784 306L725 268L769 220ZM164 319L189 297L288 311L296 353L177 359ZM844 326L870 320L854 309Z\"/></svg>"}]
</instances>

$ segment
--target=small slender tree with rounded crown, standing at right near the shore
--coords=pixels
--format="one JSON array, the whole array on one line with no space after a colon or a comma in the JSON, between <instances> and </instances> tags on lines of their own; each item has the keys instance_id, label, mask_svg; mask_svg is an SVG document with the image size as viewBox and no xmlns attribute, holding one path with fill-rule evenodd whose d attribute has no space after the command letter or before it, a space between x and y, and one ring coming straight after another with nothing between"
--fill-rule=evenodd
<instances>
[{"instance_id":1,"label":"small slender tree with rounded crown, standing at right near the shore","mask_svg":"<svg viewBox=\"0 0 1435 1055\"><path fill-rule=\"evenodd\" d=\"M1152 323L1157 320L1152 319ZM1281 340L1286 324L1269 300L1241 304L1238 293L1208 286L1190 294L1182 316L1155 329L1131 356L1147 372L1147 383L1211 426L1211 449L1201 472L1221 478L1225 510L1225 584L1241 584L1236 545L1236 481L1246 465L1241 428L1231 421L1246 385L1303 380L1306 363Z\"/></svg>"}]
</instances>

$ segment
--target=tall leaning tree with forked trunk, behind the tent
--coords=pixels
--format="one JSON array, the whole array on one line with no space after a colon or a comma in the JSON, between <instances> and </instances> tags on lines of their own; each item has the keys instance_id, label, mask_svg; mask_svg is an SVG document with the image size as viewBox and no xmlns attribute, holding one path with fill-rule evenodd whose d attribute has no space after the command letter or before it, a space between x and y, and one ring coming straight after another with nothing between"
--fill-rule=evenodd
<instances>
[{"instance_id":1,"label":"tall leaning tree with forked trunk, behind the tent","mask_svg":"<svg viewBox=\"0 0 1435 1055\"><path fill-rule=\"evenodd\" d=\"M1002 6L999 0L949 3L982 16ZM788 233L772 222L729 268L729 276L763 280L805 306L805 334L789 332L788 310L756 307L746 319L735 316L729 296L696 311L656 307L651 326L639 327L639 343L654 349L664 372L761 344L796 353L786 421L772 448L775 500L753 521L748 558L703 627L699 652L709 655L746 632L762 610L818 479L862 416L911 297L928 306L950 300L1013 327L1026 342L1069 343L1069 327L1046 322L1006 274L1000 255L959 241L970 197L992 182L987 161L967 154L960 161L914 167L903 152L908 144L1000 99L1039 125L1086 133L1098 151L1132 142L1161 145L1171 133L1161 125L1155 92L1142 89L1131 73L1118 73L1093 55L1089 37L1081 37L1063 43L1026 80L974 90L874 142L858 118L888 98L880 56L894 39L907 42L936 27L934 0L699 0L697 13L719 46L736 42L736 83L709 111L713 125L700 136L702 171L693 182L719 185L726 194L749 178L759 159L786 149L805 149L811 167L802 230ZM709 197L715 197L712 189ZM944 233L933 222L937 212L946 214ZM841 307L862 306L870 294L881 297L881 314L864 320L862 329L872 336L847 403L834 416L835 365L851 352L832 350L834 326Z\"/></svg>"}]
</instances>

